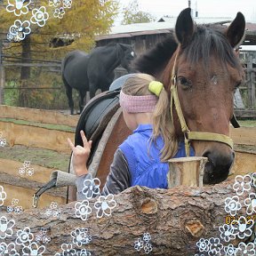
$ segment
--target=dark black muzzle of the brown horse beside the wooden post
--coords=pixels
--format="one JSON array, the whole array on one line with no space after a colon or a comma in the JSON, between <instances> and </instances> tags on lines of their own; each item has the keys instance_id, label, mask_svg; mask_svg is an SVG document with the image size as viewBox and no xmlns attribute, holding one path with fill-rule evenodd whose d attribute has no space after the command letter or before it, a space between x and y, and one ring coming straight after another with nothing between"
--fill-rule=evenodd
<instances>
[{"instance_id":1,"label":"dark black muzzle of the brown horse beside the wooden post","mask_svg":"<svg viewBox=\"0 0 256 256\"><path fill-rule=\"evenodd\" d=\"M208 158L208 162L204 166L204 184L216 184L228 178L228 173L234 163L235 153L231 148L226 154L221 153L219 150L204 152L203 156Z\"/></svg>"}]
</instances>

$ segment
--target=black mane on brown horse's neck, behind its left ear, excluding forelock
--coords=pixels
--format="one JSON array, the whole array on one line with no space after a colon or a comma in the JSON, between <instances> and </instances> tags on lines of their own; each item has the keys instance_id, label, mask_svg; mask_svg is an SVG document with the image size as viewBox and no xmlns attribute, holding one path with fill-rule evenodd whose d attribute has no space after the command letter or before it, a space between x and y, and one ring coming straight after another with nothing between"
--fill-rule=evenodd
<instances>
[{"instance_id":1,"label":"black mane on brown horse's neck, behind its left ear, excluding forelock","mask_svg":"<svg viewBox=\"0 0 256 256\"><path fill-rule=\"evenodd\" d=\"M157 43L148 52L133 60L132 69L140 73L156 76L172 58L172 54L177 49L177 46L175 37L171 33L171 35L166 36L162 42Z\"/></svg>"}]
</instances>

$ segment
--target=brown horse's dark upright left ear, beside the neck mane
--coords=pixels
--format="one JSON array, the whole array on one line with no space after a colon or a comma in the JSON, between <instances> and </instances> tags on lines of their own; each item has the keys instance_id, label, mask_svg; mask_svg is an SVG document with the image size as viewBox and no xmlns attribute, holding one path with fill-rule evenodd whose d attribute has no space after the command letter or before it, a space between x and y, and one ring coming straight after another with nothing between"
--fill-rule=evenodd
<instances>
[{"instance_id":1,"label":"brown horse's dark upright left ear, beside the neck mane","mask_svg":"<svg viewBox=\"0 0 256 256\"><path fill-rule=\"evenodd\" d=\"M191 41L194 34L194 22L191 17L191 9L186 8L176 20L175 35L181 46L186 46Z\"/></svg>"}]
</instances>

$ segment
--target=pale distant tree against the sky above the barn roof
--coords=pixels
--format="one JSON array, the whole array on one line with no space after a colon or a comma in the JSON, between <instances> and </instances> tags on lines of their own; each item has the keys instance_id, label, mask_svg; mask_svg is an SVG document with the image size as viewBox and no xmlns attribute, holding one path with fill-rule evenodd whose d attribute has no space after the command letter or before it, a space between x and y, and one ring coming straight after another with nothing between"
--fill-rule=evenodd
<instances>
[{"instance_id":1,"label":"pale distant tree against the sky above the barn roof","mask_svg":"<svg viewBox=\"0 0 256 256\"><path fill-rule=\"evenodd\" d=\"M122 25L133 23L148 23L155 21L156 18L149 12L140 11L138 0L133 0L124 8L124 20L121 21Z\"/></svg>"}]
</instances>

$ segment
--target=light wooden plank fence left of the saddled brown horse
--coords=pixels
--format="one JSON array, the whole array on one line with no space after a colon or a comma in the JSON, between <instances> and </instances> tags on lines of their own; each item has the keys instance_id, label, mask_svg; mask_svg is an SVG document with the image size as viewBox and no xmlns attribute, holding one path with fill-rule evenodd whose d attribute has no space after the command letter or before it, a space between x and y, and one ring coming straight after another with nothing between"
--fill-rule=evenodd
<instances>
[{"instance_id":1,"label":"light wooden plank fence left of the saddled brown horse","mask_svg":"<svg viewBox=\"0 0 256 256\"><path fill-rule=\"evenodd\" d=\"M52 150L52 152L66 154L68 159L70 148L68 148L67 138L74 140L78 118L79 116L64 115L57 111L0 106L0 132L6 139L8 148L12 149L12 147L20 145L32 149L44 148ZM18 121L21 122L17 123ZM40 127L40 125L45 125L45 127ZM54 128L54 125L57 128ZM69 127L73 132L58 128L62 126ZM0 147L0 150L4 150L4 148ZM26 148L24 151L26 152ZM29 160L29 156L27 160ZM11 158L0 157L0 185L4 187L8 195L4 205L11 205L12 198L17 198L19 205L22 205L23 209L28 209L32 207L33 194L50 180L50 175L55 169L31 163L30 167L34 170L33 175L20 176L19 170L20 167L22 168L22 164L24 163ZM61 171L67 170L68 165L65 170ZM66 201L67 188L51 189L42 196L38 207L49 206L51 202L66 204Z\"/></svg>"}]
</instances>

